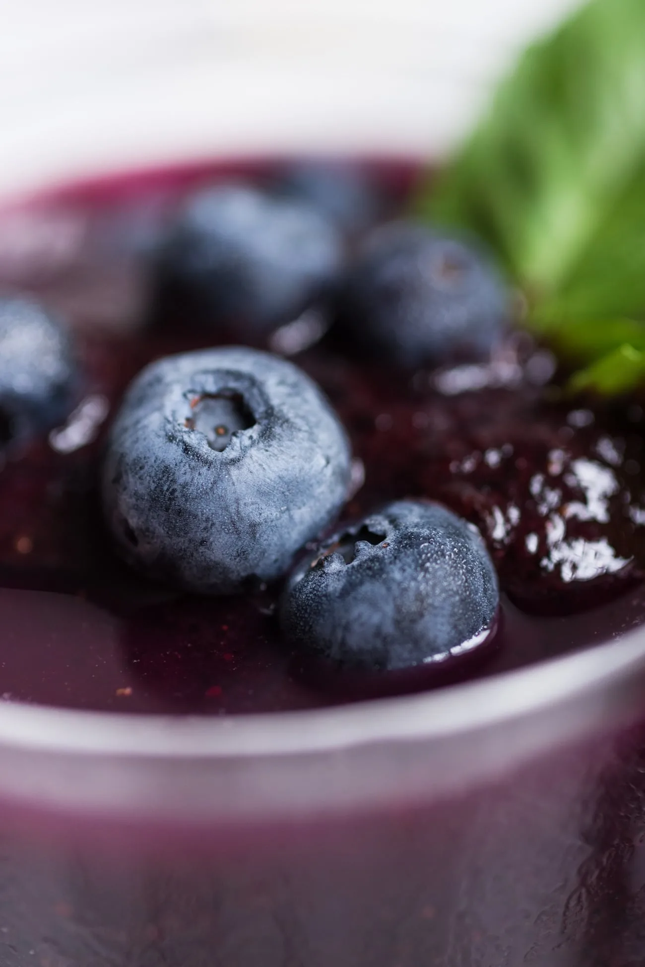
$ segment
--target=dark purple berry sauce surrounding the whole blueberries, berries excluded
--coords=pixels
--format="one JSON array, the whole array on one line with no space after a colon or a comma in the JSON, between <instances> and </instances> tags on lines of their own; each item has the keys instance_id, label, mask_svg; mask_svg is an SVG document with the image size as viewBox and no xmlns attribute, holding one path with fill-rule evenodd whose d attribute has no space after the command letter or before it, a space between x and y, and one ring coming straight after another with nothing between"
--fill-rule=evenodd
<instances>
[{"instance_id":1,"label":"dark purple berry sauce surrounding the whole blueberries, berries excluded","mask_svg":"<svg viewBox=\"0 0 645 967\"><path fill-rule=\"evenodd\" d=\"M379 690L428 689L607 640L645 617L641 403L558 391L555 361L520 331L486 364L416 372L366 364L315 314L269 343L331 398L352 440L346 518L427 497L475 522L502 589L477 655L398 681L337 680L280 641L278 588L199 599L115 557L97 495L105 427L133 375L169 353L235 341L151 319L149 254L177 198L275 163L146 171L55 190L0 213L0 287L67 316L82 386L73 414L0 453L0 695L75 709L207 715L304 709ZM370 162L381 211L404 211L419 166Z\"/></svg>"}]
</instances>

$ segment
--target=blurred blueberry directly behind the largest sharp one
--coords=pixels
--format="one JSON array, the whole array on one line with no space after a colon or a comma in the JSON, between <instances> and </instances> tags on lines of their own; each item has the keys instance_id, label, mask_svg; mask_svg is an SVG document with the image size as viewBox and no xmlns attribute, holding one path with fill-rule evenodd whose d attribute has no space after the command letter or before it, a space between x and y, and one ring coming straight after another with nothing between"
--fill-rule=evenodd
<instances>
[{"instance_id":1,"label":"blurred blueberry directly behind the largest sharp one","mask_svg":"<svg viewBox=\"0 0 645 967\"><path fill-rule=\"evenodd\" d=\"M157 273L209 323L258 336L324 299L337 281L336 228L302 200L244 185L191 195L169 227Z\"/></svg>"}]
</instances>

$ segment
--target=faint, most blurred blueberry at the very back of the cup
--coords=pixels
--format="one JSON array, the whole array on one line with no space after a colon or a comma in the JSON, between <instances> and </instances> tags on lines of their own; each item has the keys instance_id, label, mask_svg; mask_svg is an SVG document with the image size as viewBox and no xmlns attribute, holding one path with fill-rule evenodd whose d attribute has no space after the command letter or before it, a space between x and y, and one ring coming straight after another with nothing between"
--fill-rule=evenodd
<instances>
[{"instance_id":1,"label":"faint, most blurred blueberry at the very back of the cup","mask_svg":"<svg viewBox=\"0 0 645 967\"><path fill-rule=\"evenodd\" d=\"M348 235L368 228L382 207L368 176L341 161L292 164L279 178L277 190L307 201Z\"/></svg>"}]
</instances>

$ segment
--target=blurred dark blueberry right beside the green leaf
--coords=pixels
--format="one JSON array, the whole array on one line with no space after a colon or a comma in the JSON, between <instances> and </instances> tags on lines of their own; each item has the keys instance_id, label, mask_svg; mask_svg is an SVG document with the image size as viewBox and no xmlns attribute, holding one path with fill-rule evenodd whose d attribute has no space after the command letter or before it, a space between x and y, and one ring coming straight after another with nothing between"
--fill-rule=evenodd
<instances>
[{"instance_id":1,"label":"blurred dark blueberry right beside the green leaf","mask_svg":"<svg viewBox=\"0 0 645 967\"><path fill-rule=\"evenodd\" d=\"M359 345L402 366L490 354L508 317L484 253L413 221L375 229L347 274L340 319Z\"/></svg>"}]
</instances>

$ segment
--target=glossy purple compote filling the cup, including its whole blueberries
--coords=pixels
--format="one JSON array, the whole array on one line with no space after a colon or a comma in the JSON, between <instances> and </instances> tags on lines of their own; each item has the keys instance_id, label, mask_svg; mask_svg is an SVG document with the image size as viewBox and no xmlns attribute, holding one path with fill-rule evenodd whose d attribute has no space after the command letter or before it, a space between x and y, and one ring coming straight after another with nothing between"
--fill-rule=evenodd
<instances>
[{"instance_id":1,"label":"glossy purple compote filling the cup, including its whole blueberries","mask_svg":"<svg viewBox=\"0 0 645 967\"><path fill-rule=\"evenodd\" d=\"M0 398L3 700L310 708L491 675L645 616L639 400L560 392L488 254L406 227L414 164L342 165L333 205L334 168L303 170L149 171L0 214L6 301L69 333L51 336L51 390L30 357L24 426ZM274 370L295 387L282 410ZM286 462L253 449L266 407Z\"/></svg>"}]
</instances>

